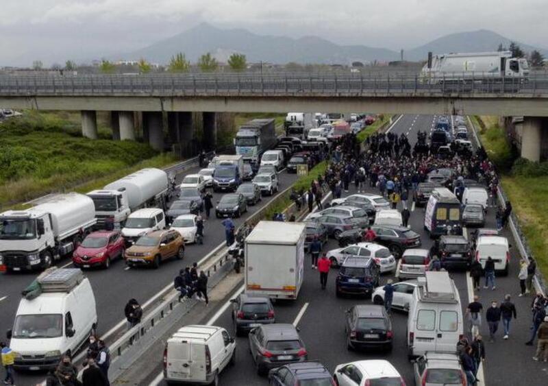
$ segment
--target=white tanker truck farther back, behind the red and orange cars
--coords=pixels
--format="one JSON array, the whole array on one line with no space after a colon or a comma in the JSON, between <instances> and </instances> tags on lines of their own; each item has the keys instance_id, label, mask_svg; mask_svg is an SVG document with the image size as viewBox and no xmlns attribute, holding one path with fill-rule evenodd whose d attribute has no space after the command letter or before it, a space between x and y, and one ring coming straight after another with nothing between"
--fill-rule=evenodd
<instances>
[{"instance_id":1,"label":"white tanker truck farther back, behind the red and orange cars","mask_svg":"<svg viewBox=\"0 0 548 386\"><path fill-rule=\"evenodd\" d=\"M148 168L87 194L95 204L97 226L104 227L106 221L112 221L114 228L120 229L134 210L155 205L163 208L167 202L168 187L169 178L165 171Z\"/></svg>"}]
</instances>

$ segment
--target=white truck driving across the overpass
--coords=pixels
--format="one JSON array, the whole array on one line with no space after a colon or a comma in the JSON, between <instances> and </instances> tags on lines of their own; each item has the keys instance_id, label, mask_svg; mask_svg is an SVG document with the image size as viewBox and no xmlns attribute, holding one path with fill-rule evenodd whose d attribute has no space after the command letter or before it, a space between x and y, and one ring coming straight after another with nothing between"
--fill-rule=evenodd
<instances>
[{"instance_id":1,"label":"white truck driving across the overpass","mask_svg":"<svg viewBox=\"0 0 548 386\"><path fill-rule=\"evenodd\" d=\"M421 79L427 83L469 80L503 80L510 78L525 80L529 75L529 64L525 58L512 58L510 51L443 53L432 56L421 72Z\"/></svg>"}]
</instances>

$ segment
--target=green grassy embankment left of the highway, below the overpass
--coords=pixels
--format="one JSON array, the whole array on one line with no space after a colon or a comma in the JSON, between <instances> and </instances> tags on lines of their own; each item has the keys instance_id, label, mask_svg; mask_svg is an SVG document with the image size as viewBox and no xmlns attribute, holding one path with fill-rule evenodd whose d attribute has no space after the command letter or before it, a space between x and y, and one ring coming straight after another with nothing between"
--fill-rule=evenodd
<instances>
[{"instance_id":1,"label":"green grassy embankment left of the highway, below the overpass","mask_svg":"<svg viewBox=\"0 0 548 386\"><path fill-rule=\"evenodd\" d=\"M175 162L143 143L83 138L72 119L71 113L25 111L2 123L0 208L53 191L85 192L142 167ZM107 134L102 130L101 137Z\"/></svg>"}]
</instances>

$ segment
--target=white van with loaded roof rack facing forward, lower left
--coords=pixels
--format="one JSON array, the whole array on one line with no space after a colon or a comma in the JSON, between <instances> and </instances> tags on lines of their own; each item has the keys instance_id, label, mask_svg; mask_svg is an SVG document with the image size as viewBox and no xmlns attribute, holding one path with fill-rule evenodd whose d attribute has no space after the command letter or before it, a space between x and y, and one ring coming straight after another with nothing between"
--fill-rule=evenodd
<instances>
[{"instance_id":1,"label":"white van with loaded roof rack facing forward, lower left","mask_svg":"<svg viewBox=\"0 0 548 386\"><path fill-rule=\"evenodd\" d=\"M46 370L88 341L97 327L95 296L80 269L47 269L39 287L19 302L10 348L18 353L16 370Z\"/></svg>"}]
</instances>

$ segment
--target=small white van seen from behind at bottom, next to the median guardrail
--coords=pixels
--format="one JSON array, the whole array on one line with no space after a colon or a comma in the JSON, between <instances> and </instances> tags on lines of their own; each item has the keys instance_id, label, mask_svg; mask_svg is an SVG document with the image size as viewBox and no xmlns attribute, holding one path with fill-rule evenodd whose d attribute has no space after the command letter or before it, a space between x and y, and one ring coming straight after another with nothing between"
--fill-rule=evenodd
<instances>
[{"instance_id":1,"label":"small white van seen from behind at bottom, next to the median guardrail","mask_svg":"<svg viewBox=\"0 0 548 386\"><path fill-rule=\"evenodd\" d=\"M166 382L218 385L219 373L234 365L236 343L227 330L216 326L179 328L166 343Z\"/></svg>"}]
</instances>

